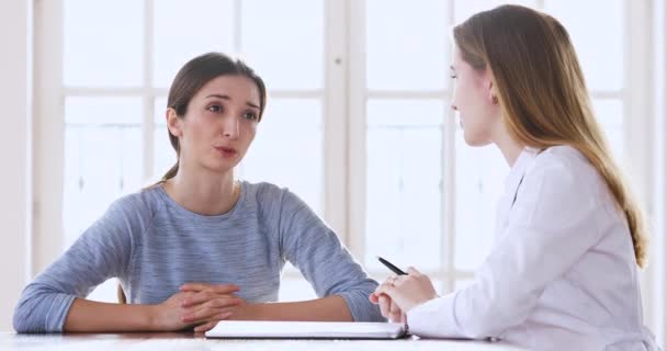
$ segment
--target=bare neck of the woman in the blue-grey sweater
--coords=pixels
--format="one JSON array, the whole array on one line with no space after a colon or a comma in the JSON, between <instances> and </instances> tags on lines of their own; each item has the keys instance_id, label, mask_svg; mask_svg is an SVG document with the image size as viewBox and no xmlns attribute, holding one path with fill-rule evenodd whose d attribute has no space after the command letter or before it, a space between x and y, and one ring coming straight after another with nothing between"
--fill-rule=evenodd
<instances>
[{"instance_id":1,"label":"bare neck of the woman in the blue-grey sweater","mask_svg":"<svg viewBox=\"0 0 667 351\"><path fill-rule=\"evenodd\" d=\"M215 216L225 214L236 205L240 188L234 181L234 170L225 173L181 168L165 181L165 191L173 201L196 214Z\"/></svg>"}]
</instances>

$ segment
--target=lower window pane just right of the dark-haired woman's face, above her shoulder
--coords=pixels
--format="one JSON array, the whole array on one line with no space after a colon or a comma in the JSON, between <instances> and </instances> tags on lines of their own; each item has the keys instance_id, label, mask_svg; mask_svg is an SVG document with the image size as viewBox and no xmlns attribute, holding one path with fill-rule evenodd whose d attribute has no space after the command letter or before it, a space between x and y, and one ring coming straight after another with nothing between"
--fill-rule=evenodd
<instances>
[{"instance_id":1,"label":"lower window pane just right of the dark-haired woman's face, above her shoulder","mask_svg":"<svg viewBox=\"0 0 667 351\"><path fill-rule=\"evenodd\" d=\"M241 163L241 177L287 186L324 215L321 120L319 100L271 100Z\"/></svg>"}]
</instances>

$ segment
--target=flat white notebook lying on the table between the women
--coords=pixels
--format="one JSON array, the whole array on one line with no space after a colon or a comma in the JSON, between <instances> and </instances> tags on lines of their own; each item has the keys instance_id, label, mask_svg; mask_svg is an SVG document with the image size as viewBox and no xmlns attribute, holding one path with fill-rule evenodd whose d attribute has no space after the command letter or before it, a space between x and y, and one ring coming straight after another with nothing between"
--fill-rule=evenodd
<instances>
[{"instance_id":1,"label":"flat white notebook lying on the table between the women","mask_svg":"<svg viewBox=\"0 0 667 351\"><path fill-rule=\"evenodd\" d=\"M206 338L234 339L397 339L406 330L397 322L223 320Z\"/></svg>"}]
</instances>

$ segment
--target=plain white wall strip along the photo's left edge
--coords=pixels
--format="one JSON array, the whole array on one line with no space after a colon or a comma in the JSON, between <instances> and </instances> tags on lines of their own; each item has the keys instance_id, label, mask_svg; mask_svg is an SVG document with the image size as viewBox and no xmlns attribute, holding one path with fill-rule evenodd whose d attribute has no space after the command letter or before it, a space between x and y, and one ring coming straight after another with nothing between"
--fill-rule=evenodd
<instances>
[{"instance_id":1,"label":"plain white wall strip along the photo's left edge","mask_svg":"<svg viewBox=\"0 0 667 351\"><path fill-rule=\"evenodd\" d=\"M0 1L0 331L30 276L32 1Z\"/></svg>"}]
</instances>

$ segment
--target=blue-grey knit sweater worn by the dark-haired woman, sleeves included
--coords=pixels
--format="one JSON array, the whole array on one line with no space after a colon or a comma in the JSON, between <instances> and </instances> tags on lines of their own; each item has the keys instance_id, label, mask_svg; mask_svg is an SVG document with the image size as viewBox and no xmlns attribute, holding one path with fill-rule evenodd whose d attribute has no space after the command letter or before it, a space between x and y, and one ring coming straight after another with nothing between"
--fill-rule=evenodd
<instances>
[{"instance_id":1,"label":"blue-grey knit sweater worn by the dark-haired woman, sleeves included","mask_svg":"<svg viewBox=\"0 0 667 351\"><path fill-rule=\"evenodd\" d=\"M241 182L239 201L219 216L183 208L160 185L115 201L25 287L14 329L63 331L75 297L113 276L133 304L159 304L186 282L237 284L249 303L275 302L285 261L318 296L342 296L354 320L384 320L368 298L377 283L302 200L272 184Z\"/></svg>"}]
</instances>

